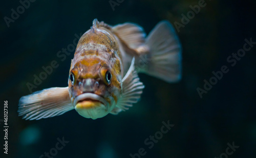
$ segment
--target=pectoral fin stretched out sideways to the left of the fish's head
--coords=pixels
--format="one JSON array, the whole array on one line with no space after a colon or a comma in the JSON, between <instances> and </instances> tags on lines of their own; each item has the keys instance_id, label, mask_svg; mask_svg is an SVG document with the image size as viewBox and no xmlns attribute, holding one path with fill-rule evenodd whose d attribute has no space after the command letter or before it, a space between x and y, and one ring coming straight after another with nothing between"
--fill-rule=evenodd
<instances>
[{"instance_id":1,"label":"pectoral fin stretched out sideways to the left of the fish's head","mask_svg":"<svg viewBox=\"0 0 256 158\"><path fill-rule=\"evenodd\" d=\"M23 96L19 100L18 115L26 120L39 120L64 114L74 109L69 87L53 87Z\"/></svg>"}]
</instances>

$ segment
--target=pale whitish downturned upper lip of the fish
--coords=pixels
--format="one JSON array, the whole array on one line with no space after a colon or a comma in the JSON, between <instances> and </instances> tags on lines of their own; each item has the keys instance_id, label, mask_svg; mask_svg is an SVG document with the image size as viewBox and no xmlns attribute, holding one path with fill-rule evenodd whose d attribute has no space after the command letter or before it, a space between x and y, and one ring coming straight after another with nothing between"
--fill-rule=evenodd
<instances>
[{"instance_id":1,"label":"pale whitish downturned upper lip of the fish","mask_svg":"<svg viewBox=\"0 0 256 158\"><path fill-rule=\"evenodd\" d=\"M79 96L77 96L74 100L74 106L76 106L76 104L79 102L79 101L82 101L82 100L85 100L85 99L91 99L91 100L95 100L95 101L99 101L101 103L103 103L104 106L107 107L108 105L108 102L101 96L99 95L96 95L94 93L84 93L84 94L81 94Z\"/></svg>"}]
</instances>

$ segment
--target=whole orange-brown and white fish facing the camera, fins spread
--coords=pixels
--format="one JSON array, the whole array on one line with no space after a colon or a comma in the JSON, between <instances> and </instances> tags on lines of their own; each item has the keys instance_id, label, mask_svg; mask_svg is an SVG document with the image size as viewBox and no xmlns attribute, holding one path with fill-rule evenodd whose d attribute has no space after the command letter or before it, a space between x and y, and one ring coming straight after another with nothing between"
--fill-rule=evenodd
<instances>
[{"instance_id":1,"label":"whole orange-brown and white fish facing the camera, fins spread","mask_svg":"<svg viewBox=\"0 0 256 158\"><path fill-rule=\"evenodd\" d=\"M138 73L181 80L182 47L173 25L162 20L146 36L133 22L111 26L94 19L77 43L68 86L21 97L18 116L39 120L73 109L93 120L117 115L139 101L144 85Z\"/></svg>"}]
</instances>

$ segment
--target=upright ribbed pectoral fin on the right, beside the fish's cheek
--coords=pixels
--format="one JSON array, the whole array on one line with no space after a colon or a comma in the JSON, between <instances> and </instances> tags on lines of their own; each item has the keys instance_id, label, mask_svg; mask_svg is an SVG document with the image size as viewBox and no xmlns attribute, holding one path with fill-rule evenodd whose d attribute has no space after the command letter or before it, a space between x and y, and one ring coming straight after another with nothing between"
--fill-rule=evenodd
<instances>
[{"instance_id":1,"label":"upright ribbed pectoral fin on the right, beside the fish's cheek","mask_svg":"<svg viewBox=\"0 0 256 158\"><path fill-rule=\"evenodd\" d=\"M122 94L118 100L116 107L111 111L111 114L118 114L121 110L125 111L137 103L142 94L144 85L140 82L138 74L134 69L134 58L132 64L122 79Z\"/></svg>"}]
</instances>

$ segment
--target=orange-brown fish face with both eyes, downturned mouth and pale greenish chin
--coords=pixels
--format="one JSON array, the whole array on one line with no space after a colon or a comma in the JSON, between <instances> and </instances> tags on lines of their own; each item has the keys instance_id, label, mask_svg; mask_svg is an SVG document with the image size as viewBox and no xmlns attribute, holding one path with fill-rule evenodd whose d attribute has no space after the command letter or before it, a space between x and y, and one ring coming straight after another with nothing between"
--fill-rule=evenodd
<instances>
[{"instance_id":1,"label":"orange-brown fish face with both eyes, downturned mouth and pale greenish chin","mask_svg":"<svg viewBox=\"0 0 256 158\"><path fill-rule=\"evenodd\" d=\"M111 67L96 59L84 59L69 73L69 94L76 111L85 118L97 119L109 114L121 94L121 82Z\"/></svg>"}]
</instances>

